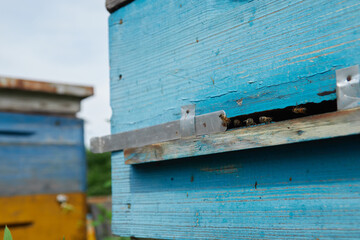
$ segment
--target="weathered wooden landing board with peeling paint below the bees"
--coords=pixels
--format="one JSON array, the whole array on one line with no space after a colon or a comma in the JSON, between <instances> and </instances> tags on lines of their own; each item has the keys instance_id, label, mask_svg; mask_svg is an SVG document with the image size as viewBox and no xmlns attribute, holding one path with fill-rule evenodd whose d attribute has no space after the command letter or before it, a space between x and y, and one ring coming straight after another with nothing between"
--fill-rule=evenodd
<instances>
[{"instance_id":1,"label":"weathered wooden landing board with peeling paint below the bees","mask_svg":"<svg viewBox=\"0 0 360 240\"><path fill-rule=\"evenodd\" d=\"M124 155L126 164L139 164L359 133L360 108L355 108L125 149Z\"/></svg>"}]
</instances>

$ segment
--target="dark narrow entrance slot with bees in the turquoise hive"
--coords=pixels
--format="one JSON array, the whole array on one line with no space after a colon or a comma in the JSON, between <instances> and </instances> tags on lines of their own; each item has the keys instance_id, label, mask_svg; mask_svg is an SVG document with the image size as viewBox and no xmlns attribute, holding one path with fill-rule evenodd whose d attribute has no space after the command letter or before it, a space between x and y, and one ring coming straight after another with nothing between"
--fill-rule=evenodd
<instances>
[{"instance_id":1,"label":"dark narrow entrance slot with bees in the turquoise hive","mask_svg":"<svg viewBox=\"0 0 360 240\"><path fill-rule=\"evenodd\" d=\"M228 130L272 122L281 122L311 115L335 112L336 110L336 100L330 100L320 103L306 103L297 106L286 107L283 109L256 112L230 118Z\"/></svg>"}]
</instances>

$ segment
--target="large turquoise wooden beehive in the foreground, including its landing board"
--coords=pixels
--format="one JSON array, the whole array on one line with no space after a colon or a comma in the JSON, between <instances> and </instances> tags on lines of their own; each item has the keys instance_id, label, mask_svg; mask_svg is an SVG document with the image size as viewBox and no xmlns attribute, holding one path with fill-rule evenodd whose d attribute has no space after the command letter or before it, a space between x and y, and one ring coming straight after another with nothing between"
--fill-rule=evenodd
<instances>
[{"instance_id":1,"label":"large turquoise wooden beehive in the foreground, including its landing board","mask_svg":"<svg viewBox=\"0 0 360 240\"><path fill-rule=\"evenodd\" d=\"M114 152L114 234L360 236L359 110L335 103L336 70L360 63L359 1L107 6L113 134L179 120L189 104L242 124ZM276 123L243 126L241 116L274 111ZM304 118L280 121L286 111Z\"/></svg>"}]
</instances>

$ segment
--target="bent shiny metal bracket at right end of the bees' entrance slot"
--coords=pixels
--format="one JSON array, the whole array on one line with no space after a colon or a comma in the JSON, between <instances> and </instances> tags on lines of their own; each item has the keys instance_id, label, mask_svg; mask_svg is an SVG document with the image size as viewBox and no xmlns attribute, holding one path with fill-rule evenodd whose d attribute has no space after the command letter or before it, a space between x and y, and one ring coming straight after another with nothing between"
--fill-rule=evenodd
<instances>
[{"instance_id":1,"label":"bent shiny metal bracket at right end of the bees' entrance slot","mask_svg":"<svg viewBox=\"0 0 360 240\"><path fill-rule=\"evenodd\" d=\"M336 70L336 94L339 110L360 106L359 65Z\"/></svg>"}]
</instances>

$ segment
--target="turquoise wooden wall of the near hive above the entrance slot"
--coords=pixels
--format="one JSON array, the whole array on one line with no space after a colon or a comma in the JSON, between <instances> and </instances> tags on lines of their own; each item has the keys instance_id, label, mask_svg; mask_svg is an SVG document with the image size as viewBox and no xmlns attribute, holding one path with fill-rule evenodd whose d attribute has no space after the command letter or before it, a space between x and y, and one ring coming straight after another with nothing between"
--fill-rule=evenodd
<instances>
[{"instance_id":1,"label":"turquoise wooden wall of the near hive above the entrance slot","mask_svg":"<svg viewBox=\"0 0 360 240\"><path fill-rule=\"evenodd\" d=\"M112 132L336 98L360 63L358 0L136 0L109 19Z\"/></svg>"}]
</instances>

